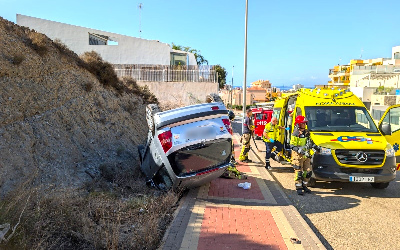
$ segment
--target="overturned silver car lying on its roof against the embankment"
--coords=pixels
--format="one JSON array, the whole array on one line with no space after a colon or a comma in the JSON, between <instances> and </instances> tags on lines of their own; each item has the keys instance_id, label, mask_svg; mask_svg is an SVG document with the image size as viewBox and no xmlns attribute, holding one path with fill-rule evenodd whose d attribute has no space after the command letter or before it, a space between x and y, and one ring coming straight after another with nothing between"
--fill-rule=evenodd
<instances>
[{"instance_id":1,"label":"overturned silver car lying on its roof against the embankment","mask_svg":"<svg viewBox=\"0 0 400 250\"><path fill-rule=\"evenodd\" d=\"M164 112L149 104L146 120L150 130L138 152L148 186L195 188L218 178L230 166L233 131L222 102Z\"/></svg>"}]
</instances>

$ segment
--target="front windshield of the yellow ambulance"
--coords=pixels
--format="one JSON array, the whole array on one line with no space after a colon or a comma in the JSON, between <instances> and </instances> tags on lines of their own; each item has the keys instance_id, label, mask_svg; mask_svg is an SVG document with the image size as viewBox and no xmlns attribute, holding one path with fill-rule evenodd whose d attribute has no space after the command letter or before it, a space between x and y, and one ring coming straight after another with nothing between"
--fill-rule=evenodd
<instances>
[{"instance_id":1,"label":"front windshield of the yellow ambulance","mask_svg":"<svg viewBox=\"0 0 400 250\"><path fill-rule=\"evenodd\" d=\"M309 106L305 110L310 131L378 132L365 107Z\"/></svg>"}]
</instances>

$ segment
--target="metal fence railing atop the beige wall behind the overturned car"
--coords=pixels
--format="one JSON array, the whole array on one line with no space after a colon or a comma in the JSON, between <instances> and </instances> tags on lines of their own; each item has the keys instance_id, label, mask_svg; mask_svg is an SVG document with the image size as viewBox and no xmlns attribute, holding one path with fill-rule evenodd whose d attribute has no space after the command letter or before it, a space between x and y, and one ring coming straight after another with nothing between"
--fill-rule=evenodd
<instances>
[{"instance_id":1,"label":"metal fence railing atop the beige wall behind the overturned car","mask_svg":"<svg viewBox=\"0 0 400 250\"><path fill-rule=\"evenodd\" d=\"M148 82L217 82L215 70L136 70L114 68L118 77Z\"/></svg>"}]
</instances>

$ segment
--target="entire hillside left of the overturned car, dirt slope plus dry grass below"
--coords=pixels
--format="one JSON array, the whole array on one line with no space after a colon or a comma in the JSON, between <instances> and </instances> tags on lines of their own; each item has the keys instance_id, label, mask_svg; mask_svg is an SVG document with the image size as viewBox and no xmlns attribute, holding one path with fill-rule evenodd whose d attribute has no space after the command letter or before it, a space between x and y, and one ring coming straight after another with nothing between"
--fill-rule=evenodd
<instances>
[{"instance_id":1,"label":"entire hillside left of the overturned car, dirt slope plus dry grass below","mask_svg":"<svg viewBox=\"0 0 400 250\"><path fill-rule=\"evenodd\" d=\"M138 169L148 103L96 52L0 18L0 249L156 248L179 196Z\"/></svg>"}]
</instances>

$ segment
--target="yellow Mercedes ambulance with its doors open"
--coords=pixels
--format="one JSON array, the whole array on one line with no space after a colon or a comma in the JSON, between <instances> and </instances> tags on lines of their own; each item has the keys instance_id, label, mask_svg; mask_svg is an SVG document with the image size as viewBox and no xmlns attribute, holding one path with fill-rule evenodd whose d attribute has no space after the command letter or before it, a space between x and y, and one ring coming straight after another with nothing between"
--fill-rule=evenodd
<instances>
[{"instance_id":1,"label":"yellow Mercedes ambulance with its doors open","mask_svg":"<svg viewBox=\"0 0 400 250\"><path fill-rule=\"evenodd\" d=\"M362 101L348 89L300 89L282 96L276 99L272 114L278 124L290 127L280 130L278 136L284 145L282 163L291 162L290 135L299 115L309 120L311 138L321 148L320 154L312 156L308 186L322 180L370 182L383 189L396 178L400 168L400 105L388 108L377 126Z\"/></svg>"}]
</instances>

